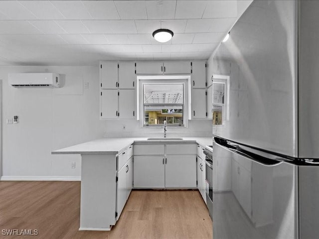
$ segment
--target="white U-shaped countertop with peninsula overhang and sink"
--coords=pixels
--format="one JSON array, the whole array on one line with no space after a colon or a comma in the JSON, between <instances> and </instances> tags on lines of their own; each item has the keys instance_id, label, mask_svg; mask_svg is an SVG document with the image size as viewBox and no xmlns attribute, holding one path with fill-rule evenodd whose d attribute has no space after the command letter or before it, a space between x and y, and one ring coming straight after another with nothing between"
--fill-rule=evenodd
<instances>
[{"instance_id":1,"label":"white U-shaped countertop with peninsula overhang and sink","mask_svg":"<svg viewBox=\"0 0 319 239\"><path fill-rule=\"evenodd\" d=\"M183 140L147 140L136 138L101 138L52 151L52 154L118 154L132 143L190 143L212 145L212 137L183 137Z\"/></svg>"}]
</instances>

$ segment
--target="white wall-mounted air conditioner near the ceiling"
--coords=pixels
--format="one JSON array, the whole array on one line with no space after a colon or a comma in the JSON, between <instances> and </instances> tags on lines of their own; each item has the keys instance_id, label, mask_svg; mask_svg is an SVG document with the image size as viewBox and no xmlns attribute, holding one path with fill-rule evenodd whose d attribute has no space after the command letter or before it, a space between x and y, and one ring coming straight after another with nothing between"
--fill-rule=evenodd
<instances>
[{"instance_id":1,"label":"white wall-mounted air conditioner near the ceiling","mask_svg":"<svg viewBox=\"0 0 319 239\"><path fill-rule=\"evenodd\" d=\"M60 75L56 73L9 73L8 83L13 87L60 87Z\"/></svg>"}]
</instances>

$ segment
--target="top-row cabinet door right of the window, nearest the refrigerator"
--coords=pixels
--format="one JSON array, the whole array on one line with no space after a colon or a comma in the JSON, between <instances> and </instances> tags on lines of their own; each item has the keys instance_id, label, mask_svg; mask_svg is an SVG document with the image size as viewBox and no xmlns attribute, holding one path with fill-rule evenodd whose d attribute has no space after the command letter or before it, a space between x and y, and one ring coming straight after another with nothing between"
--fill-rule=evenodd
<instances>
[{"instance_id":1,"label":"top-row cabinet door right of the window, nearest the refrigerator","mask_svg":"<svg viewBox=\"0 0 319 239\"><path fill-rule=\"evenodd\" d=\"M192 88L206 88L206 62L193 61L191 73Z\"/></svg>"}]
</instances>

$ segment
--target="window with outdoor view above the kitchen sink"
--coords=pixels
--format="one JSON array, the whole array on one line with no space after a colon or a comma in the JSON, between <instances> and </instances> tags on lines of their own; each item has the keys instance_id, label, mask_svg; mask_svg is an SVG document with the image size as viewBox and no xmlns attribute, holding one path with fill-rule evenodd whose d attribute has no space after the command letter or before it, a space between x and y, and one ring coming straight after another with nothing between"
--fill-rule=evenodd
<instances>
[{"instance_id":1,"label":"window with outdoor view above the kitchen sink","mask_svg":"<svg viewBox=\"0 0 319 239\"><path fill-rule=\"evenodd\" d=\"M184 83L143 83L144 126L184 126Z\"/></svg>"}]
</instances>

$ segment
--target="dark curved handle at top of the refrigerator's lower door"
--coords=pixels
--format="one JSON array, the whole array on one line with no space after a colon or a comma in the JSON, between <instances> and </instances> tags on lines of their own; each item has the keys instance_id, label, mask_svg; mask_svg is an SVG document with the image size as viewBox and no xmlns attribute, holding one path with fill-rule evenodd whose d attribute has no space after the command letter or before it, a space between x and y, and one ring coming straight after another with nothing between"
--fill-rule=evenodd
<instances>
[{"instance_id":1,"label":"dark curved handle at top of the refrigerator's lower door","mask_svg":"<svg viewBox=\"0 0 319 239\"><path fill-rule=\"evenodd\" d=\"M275 166L275 165L281 164L283 162L280 160L270 159L270 158L258 155L256 153L250 152L246 149L241 148L239 145L230 144L230 143L228 143L227 140L222 139L222 138L214 137L214 140L221 147L223 147L229 151L232 151L236 154L242 155L246 158L249 158L257 163L263 164L265 166Z\"/></svg>"}]
</instances>

